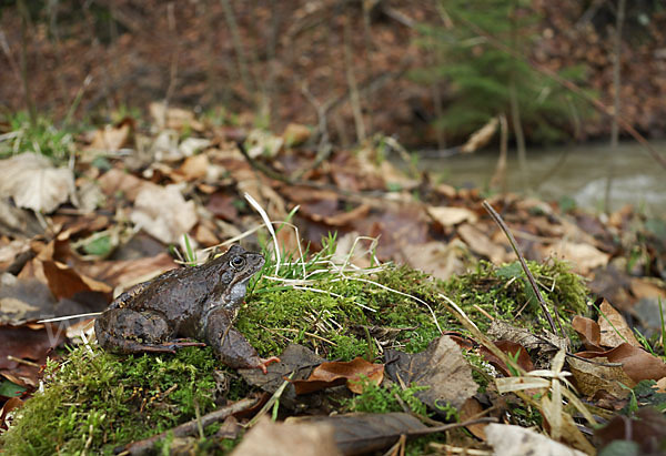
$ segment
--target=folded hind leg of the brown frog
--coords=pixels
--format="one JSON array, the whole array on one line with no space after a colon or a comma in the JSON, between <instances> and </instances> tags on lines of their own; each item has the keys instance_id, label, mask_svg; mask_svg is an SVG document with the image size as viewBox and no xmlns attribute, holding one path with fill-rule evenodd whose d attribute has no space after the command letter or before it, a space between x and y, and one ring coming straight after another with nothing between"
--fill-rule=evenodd
<instances>
[{"instance_id":1,"label":"folded hind leg of the brown frog","mask_svg":"<svg viewBox=\"0 0 666 456\"><path fill-rule=\"evenodd\" d=\"M157 312L109 308L94 322L98 343L117 353L175 353L184 346L202 346L195 342L172 340L173 331Z\"/></svg>"}]
</instances>

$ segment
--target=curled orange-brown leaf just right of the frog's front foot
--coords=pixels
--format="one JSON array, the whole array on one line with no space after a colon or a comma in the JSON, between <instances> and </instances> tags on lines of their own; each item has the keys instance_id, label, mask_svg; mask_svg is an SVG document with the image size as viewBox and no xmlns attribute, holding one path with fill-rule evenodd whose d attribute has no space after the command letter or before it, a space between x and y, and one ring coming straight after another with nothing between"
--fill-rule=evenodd
<instances>
[{"instance_id":1,"label":"curled orange-brown leaf just right of the frog's front foot","mask_svg":"<svg viewBox=\"0 0 666 456\"><path fill-rule=\"evenodd\" d=\"M292 381L296 394L307 394L332 386L344 385L356 394L363 393L362 377L379 385L384 379L384 365L356 357L349 362L322 363L304 381Z\"/></svg>"}]
</instances>

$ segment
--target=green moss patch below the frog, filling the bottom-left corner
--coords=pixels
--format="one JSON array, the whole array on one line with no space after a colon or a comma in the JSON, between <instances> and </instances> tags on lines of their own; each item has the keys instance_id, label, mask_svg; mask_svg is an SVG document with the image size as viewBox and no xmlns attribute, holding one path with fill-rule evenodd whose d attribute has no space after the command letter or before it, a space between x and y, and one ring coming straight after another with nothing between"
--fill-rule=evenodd
<instances>
[{"instance_id":1,"label":"green moss patch below the frog, filling the bottom-left corner","mask_svg":"<svg viewBox=\"0 0 666 456\"><path fill-rule=\"evenodd\" d=\"M210 348L176 355L117 356L73 349L50 362L44 392L21 409L3 436L8 454L111 454L118 445L149 437L214 408Z\"/></svg>"}]
</instances>

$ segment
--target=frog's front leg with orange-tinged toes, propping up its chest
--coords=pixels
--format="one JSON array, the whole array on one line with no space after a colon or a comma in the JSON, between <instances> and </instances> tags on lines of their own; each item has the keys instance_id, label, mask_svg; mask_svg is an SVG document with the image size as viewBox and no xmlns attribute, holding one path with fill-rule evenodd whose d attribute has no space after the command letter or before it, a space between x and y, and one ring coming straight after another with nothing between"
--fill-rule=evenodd
<instances>
[{"instance_id":1,"label":"frog's front leg with orange-tinged toes, propping up its chest","mask_svg":"<svg viewBox=\"0 0 666 456\"><path fill-rule=\"evenodd\" d=\"M232 368L260 368L265 374L266 366L280 358L260 358L248 340L233 327L233 313L224 307L216 307L208 316L205 341L213 347L222 363Z\"/></svg>"}]
</instances>

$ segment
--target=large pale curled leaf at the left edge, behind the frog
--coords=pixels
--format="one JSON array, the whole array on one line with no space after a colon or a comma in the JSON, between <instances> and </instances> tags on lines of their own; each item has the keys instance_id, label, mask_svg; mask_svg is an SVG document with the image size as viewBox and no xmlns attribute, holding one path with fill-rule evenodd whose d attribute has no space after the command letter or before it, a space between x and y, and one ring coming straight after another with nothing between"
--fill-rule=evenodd
<instances>
[{"instance_id":1,"label":"large pale curled leaf at the left edge, behind the frog","mask_svg":"<svg viewBox=\"0 0 666 456\"><path fill-rule=\"evenodd\" d=\"M65 201L75 201L72 171L54 168L49 159L36 153L0 160L0 197L9 196L19 207L53 212Z\"/></svg>"}]
</instances>

